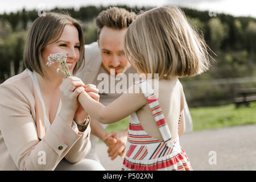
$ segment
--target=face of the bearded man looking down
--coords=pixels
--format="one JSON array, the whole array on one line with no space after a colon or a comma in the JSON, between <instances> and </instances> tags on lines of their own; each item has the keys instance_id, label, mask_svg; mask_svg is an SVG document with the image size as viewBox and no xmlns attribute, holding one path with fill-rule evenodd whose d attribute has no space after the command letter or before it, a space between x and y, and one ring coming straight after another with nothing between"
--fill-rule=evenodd
<instances>
[{"instance_id":1,"label":"face of the bearded man looking down","mask_svg":"<svg viewBox=\"0 0 256 182\"><path fill-rule=\"evenodd\" d=\"M123 38L126 30L127 28L115 30L104 26L98 39L102 66L109 73L110 69L115 69L115 75L124 73L130 67L130 63L123 52Z\"/></svg>"}]
</instances>

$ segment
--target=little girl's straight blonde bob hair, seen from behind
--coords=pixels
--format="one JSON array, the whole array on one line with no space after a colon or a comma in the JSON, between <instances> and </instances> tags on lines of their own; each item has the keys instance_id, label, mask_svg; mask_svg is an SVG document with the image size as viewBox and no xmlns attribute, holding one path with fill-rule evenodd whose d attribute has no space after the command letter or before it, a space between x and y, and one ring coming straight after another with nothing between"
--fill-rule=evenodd
<instances>
[{"instance_id":1,"label":"little girl's straight blonde bob hair, seen from behind","mask_svg":"<svg viewBox=\"0 0 256 182\"><path fill-rule=\"evenodd\" d=\"M194 76L209 69L208 46L178 7L158 7L137 16L126 31L124 51L142 73L159 80ZM211 57L212 58L212 57Z\"/></svg>"}]
</instances>

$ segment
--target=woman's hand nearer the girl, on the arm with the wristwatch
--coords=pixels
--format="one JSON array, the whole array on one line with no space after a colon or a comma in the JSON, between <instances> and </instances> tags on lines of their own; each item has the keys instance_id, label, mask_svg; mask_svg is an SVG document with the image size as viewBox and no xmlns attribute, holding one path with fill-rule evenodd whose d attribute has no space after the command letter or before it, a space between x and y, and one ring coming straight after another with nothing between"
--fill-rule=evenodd
<instances>
[{"instance_id":1,"label":"woman's hand nearer the girl, on the arm with the wristwatch","mask_svg":"<svg viewBox=\"0 0 256 182\"><path fill-rule=\"evenodd\" d=\"M89 94L90 97L92 97L94 100L99 101L100 100L100 96L98 94L98 89L96 87L96 85L92 85L92 84L87 84L84 86L85 91ZM86 113L86 111L84 110L84 108L81 106L80 102L79 102L79 106L76 110L76 114L75 114L75 121L77 123L84 123L85 118L88 116L88 114Z\"/></svg>"}]
</instances>

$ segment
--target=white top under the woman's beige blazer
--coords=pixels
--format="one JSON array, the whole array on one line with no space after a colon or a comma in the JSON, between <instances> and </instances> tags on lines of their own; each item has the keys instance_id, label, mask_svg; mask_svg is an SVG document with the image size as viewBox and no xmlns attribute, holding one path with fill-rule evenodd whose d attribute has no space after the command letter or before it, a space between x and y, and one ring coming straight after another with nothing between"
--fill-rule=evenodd
<instances>
[{"instance_id":1,"label":"white top under the woman's beige blazer","mask_svg":"<svg viewBox=\"0 0 256 182\"><path fill-rule=\"evenodd\" d=\"M44 126L46 127L46 132L47 132L47 130L51 126L51 123L49 122L49 119L46 115L46 105L44 105L44 100L43 100L43 97L42 97L42 94L41 94L41 91L40 91L40 87L39 87L39 83L38 83L38 77L36 76L35 71L31 72L29 69L27 69L27 72L28 72L28 75L30 75L30 77L32 79L32 82L33 82L33 85L34 85L34 88L35 88L35 92L36 92L36 94L38 94L39 100L42 104L43 112L44 112ZM60 109L61 109L61 99L60 99L60 102L59 102L59 106L58 106L55 118L56 118L57 114L59 114ZM55 118L54 118L54 120L55 120ZM72 129L75 130L76 133L79 133L79 130L77 128L77 125L76 125L75 121L73 121L73 123L72 123Z\"/></svg>"}]
</instances>

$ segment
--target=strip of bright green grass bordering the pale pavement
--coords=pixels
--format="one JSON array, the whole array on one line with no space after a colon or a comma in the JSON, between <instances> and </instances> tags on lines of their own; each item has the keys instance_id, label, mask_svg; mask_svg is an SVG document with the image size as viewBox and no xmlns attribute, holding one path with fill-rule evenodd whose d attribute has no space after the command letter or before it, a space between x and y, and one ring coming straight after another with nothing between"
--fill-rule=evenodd
<instances>
[{"instance_id":1,"label":"strip of bright green grass bordering the pale pavement","mask_svg":"<svg viewBox=\"0 0 256 182\"><path fill-rule=\"evenodd\" d=\"M215 129L226 126L256 124L256 102L251 102L250 107L240 106L238 109L234 104L214 107L190 108L193 120L193 130ZM108 133L122 131L129 126L129 118L121 122L109 125Z\"/></svg>"}]
</instances>

